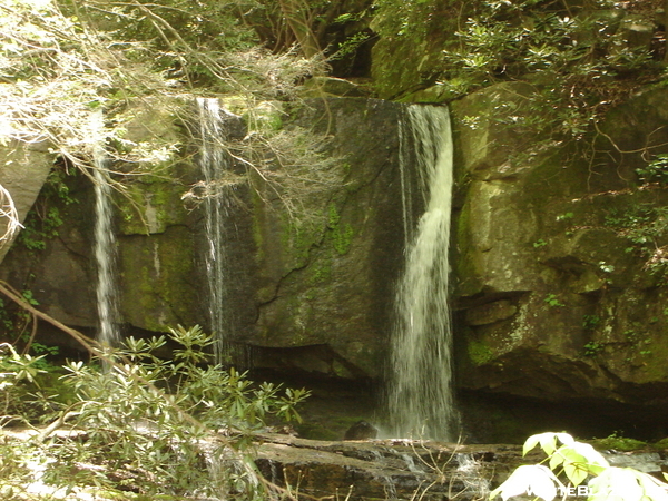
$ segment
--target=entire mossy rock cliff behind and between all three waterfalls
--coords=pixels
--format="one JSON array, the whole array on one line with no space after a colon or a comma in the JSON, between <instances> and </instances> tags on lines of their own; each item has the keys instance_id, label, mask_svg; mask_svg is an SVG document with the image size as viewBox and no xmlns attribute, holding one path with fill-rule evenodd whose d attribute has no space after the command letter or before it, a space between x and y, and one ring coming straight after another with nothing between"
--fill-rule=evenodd
<instances>
[{"instance_id":1,"label":"entire mossy rock cliff behind and between all three waterfalls","mask_svg":"<svg viewBox=\"0 0 668 501\"><path fill-rule=\"evenodd\" d=\"M426 10L406 13L406 20L431 12L421 29L438 31L445 21L436 3L421 2ZM419 48L430 56L414 58L415 47L400 40L410 33L389 33L376 55L399 45L419 66L401 75L376 67L384 78L377 80L380 95L446 99L438 85L429 87L438 67L433 48ZM531 91L507 82L451 104L458 389L472 409L471 422L480 424L478 436L488 440L544 428L544 420L531 421L539 415L559 414L562 421L550 423L564 428L583 403L591 410L584 419L609 419L609 431L615 423L639 422L661 434L668 410L668 91L649 89L618 106L587 144L550 141L514 127L515 116L531 112ZM247 355L244 363L351 381L382 379L403 259L403 106L314 99L283 119L288 129L313 127L333 137L327 155L335 160L324 167L326 176L314 177L327 181L316 187L288 175L275 185L252 171L230 188L230 325ZM510 110L513 116L503 116ZM146 114L143 120L159 125L159 134L183 136L174 117ZM137 126L130 134L145 131ZM23 164L36 167L30 177L38 183L24 190L26 207L50 167L43 153L30 155L38 160ZM208 323L204 216L202 207L181 200L200 178L196 155L183 155L159 176L128 181L115 200L128 334ZM31 291L57 320L92 330L92 190L81 176L65 183L69 197L42 194L35 220L28 220L41 225L43 245L14 245L0 276ZM58 232L43 226L51 207L62 219ZM508 413L510 407L522 411ZM508 420L520 425L484 431L501 430Z\"/></svg>"}]
</instances>

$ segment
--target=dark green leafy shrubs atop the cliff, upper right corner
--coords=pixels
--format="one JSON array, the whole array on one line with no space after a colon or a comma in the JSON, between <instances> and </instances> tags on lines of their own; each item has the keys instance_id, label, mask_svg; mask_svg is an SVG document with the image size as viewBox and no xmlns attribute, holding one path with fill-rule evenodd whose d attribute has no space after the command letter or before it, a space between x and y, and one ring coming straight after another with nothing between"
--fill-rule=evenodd
<instances>
[{"instance_id":1,"label":"dark green leafy shrubs atop the cliff, upper right corner","mask_svg":"<svg viewBox=\"0 0 668 501\"><path fill-rule=\"evenodd\" d=\"M558 137L591 135L610 107L664 76L656 6L638 3L644 9L608 0L480 2L456 33L459 48L444 52L453 68L445 85L468 92L523 82L531 112L521 125Z\"/></svg>"}]
</instances>

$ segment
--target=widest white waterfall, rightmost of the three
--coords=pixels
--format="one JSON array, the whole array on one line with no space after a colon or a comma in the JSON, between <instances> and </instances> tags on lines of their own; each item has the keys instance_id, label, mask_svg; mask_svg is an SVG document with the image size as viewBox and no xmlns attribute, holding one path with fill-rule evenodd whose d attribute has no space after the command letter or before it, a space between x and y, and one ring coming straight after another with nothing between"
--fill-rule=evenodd
<instances>
[{"instance_id":1,"label":"widest white waterfall, rightmost of the three","mask_svg":"<svg viewBox=\"0 0 668 501\"><path fill-rule=\"evenodd\" d=\"M452 440L456 428L451 379L452 331L448 261L452 200L452 137L444 107L413 105L401 127L402 185L411 150L426 207L406 227L405 267L395 296L389 419L395 436ZM410 195L404 190L404 196ZM402 200L410 215L411 200ZM412 222L404 222L411 225Z\"/></svg>"}]
</instances>

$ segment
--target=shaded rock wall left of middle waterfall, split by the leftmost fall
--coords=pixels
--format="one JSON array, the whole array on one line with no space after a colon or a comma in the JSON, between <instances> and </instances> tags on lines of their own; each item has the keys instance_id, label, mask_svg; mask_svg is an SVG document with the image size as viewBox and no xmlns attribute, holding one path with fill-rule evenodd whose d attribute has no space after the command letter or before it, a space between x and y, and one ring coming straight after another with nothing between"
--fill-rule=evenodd
<instances>
[{"instance_id":1,"label":"shaded rock wall left of middle waterfall, split by the leftmost fall","mask_svg":"<svg viewBox=\"0 0 668 501\"><path fill-rule=\"evenodd\" d=\"M181 101L169 106L163 102L159 107L151 106L150 100L143 101L136 119L126 124L128 139L141 144L153 137L181 137L173 112L184 106ZM48 156L48 160L50 168L55 158ZM116 193L114 199L121 316L125 323L141 330L159 330L158 325L178 322L189 324L195 318L184 313L191 310L193 301L189 294L181 295L183 286L179 288L186 277L193 276L193 259L185 250L188 238L177 240L174 236L183 234L189 224L180 195L196 173L188 161L174 164L168 159L165 164L153 166L155 175L118 175L125 191ZM128 171L128 166L114 167L119 173ZM92 185L75 168L66 171L63 165L57 165L55 173L58 176L53 181L39 186L40 198L26 223L31 242L19 238L2 263L0 276L17 289L28 291L45 313L92 333L97 325ZM39 240L38 245L35 240ZM161 245L165 242L169 248ZM174 273L175 267L178 273ZM191 289L196 288L190 286ZM174 294L179 298L175 299ZM46 334L41 340L45 344L72 344L48 326L40 328ZM80 348L76 344L73 347Z\"/></svg>"}]
</instances>

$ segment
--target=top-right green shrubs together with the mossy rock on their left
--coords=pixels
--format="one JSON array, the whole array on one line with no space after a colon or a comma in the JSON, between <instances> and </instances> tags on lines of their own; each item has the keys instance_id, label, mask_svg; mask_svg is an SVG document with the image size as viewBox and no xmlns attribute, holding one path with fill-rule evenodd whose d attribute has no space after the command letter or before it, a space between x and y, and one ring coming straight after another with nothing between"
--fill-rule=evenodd
<instances>
[{"instance_id":1,"label":"top-right green shrubs together with the mossy rock on their left","mask_svg":"<svg viewBox=\"0 0 668 501\"><path fill-rule=\"evenodd\" d=\"M414 61L375 61L382 95L449 101L502 85L517 98L479 118L501 116L502 125L542 139L591 145L612 107L665 80L660 1L375 4L373 26L383 47L377 56L391 59L395 51Z\"/></svg>"}]
</instances>

